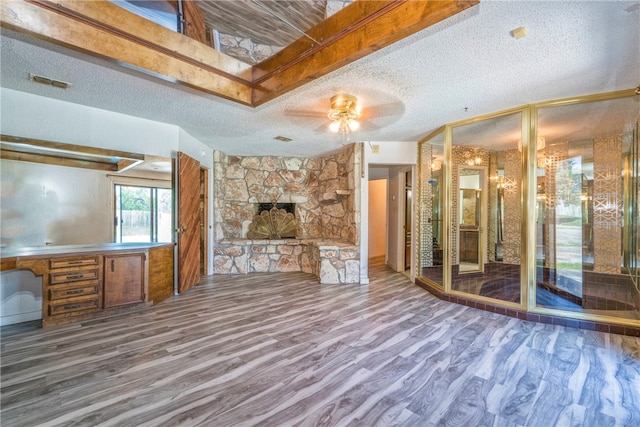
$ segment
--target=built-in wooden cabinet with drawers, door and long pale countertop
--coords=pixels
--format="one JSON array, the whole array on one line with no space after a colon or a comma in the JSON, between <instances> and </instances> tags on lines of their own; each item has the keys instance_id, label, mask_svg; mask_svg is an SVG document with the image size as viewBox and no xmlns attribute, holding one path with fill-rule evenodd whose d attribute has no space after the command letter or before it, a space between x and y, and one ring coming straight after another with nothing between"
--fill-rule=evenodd
<instances>
[{"instance_id":1,"label":"built-in wooden cabinet with drawers, door and long pale countertop","mask_svg":"<svg viewBox=\"0 0 640 427\"><path fill-rule=\"evenodd\" d=\"M0 271L42 277L42 326L137 310L173 295L173 243L105 243L3 250Z\"/></svg>"}]
</instances>

